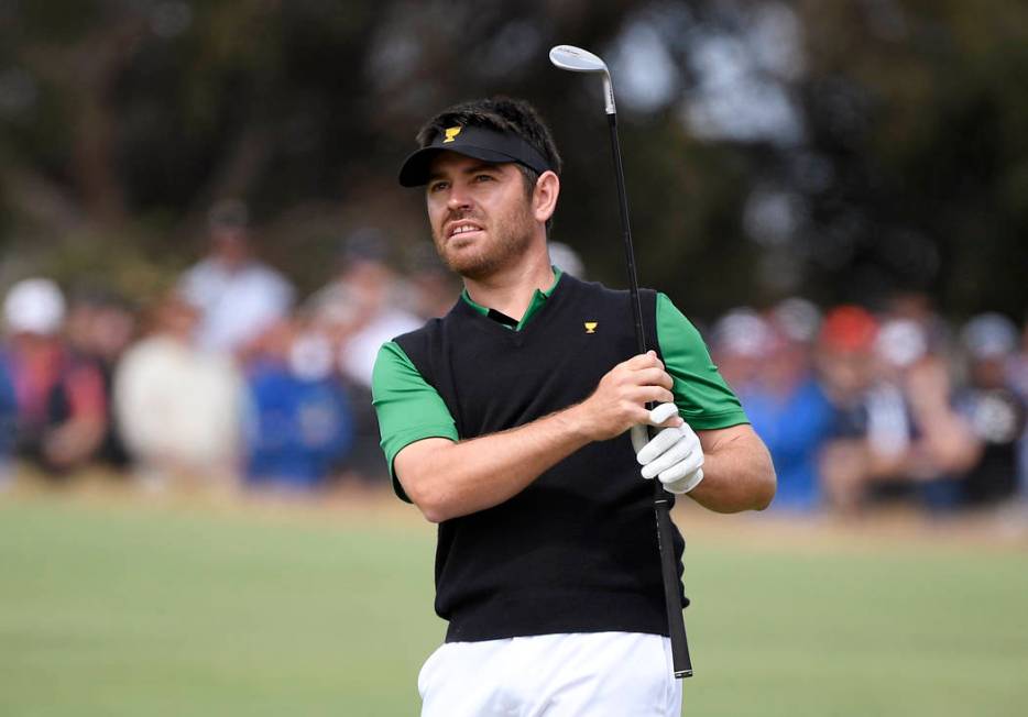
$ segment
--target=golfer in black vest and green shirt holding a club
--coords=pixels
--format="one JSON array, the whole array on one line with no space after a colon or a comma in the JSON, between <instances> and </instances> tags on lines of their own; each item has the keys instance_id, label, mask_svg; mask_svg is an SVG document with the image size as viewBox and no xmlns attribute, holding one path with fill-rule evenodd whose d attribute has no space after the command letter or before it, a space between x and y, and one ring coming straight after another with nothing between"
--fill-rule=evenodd
<instances>
[{"instance_id":1,"label":"golfer in black vest and green shirt holding a club","mask_svg":"<svg viewBox=\"0 0 1028 717\"><path fill-rule=\"evenodd\" d=\"M643 477L761 509L767 451L666 297L643 293L655 350L633 355L627 293L550 266L560 158L528 104L456 106L418 143L400 181L426 186L464 293L382 348L372 393L397 494L439 523L449 628L418 677L423 715L678 715ZM644 423L664 431L638 441L639 477Z\"/></svg>"}]
</instances>

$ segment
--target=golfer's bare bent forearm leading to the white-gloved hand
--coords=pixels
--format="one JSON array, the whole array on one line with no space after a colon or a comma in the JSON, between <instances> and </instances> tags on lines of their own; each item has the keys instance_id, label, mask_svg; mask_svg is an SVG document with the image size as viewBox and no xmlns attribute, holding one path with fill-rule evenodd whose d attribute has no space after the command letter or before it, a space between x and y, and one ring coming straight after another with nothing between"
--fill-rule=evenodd
<instances>
[{"instance_id":1,"label":"golfer's bare bent forearm leading to the white-gloved hand","mask_svg":"<svg viewBox=\"0 0 1028 717\"><path fill-rule=\"evenodd\" d=\"M706 435L704 435L706 433ZM712 438L710 433L719 434ZM703 432L703 481L689 497L717 512L763 510L775 497L770 454L752 429Z\"/></svg>"}]
</instances>

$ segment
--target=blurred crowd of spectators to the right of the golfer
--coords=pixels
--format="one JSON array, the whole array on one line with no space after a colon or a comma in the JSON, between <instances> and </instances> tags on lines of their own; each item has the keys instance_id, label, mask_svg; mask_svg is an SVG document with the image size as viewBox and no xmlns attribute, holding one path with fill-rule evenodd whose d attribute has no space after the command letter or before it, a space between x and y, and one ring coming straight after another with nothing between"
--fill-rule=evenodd
<instances>
[{"instance_id":1,"label":"blurred crowd of spectators to the right of the golfer","mask_svg":"<svg viewBox=\"0 0 1028 717\"><path fill-rule=\"evenodd\" d=\"M1007 317L951 326L920 294L875 312L790 298L733 310L710 338L772 452L778 510L944 515L1028 485L1028 327Z\"/></svg>"}]
</instances>

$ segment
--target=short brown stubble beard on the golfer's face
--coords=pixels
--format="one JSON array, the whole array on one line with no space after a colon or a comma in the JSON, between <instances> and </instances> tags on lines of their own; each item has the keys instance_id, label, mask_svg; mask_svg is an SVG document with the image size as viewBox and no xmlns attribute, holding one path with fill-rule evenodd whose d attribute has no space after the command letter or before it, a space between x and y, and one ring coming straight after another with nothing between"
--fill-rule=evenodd
<instances>
[{"instance_id":1,"label":"short brown stubble beard on the golfer's face","mask_svg":"<svg viewBox=\"0 0 1028 717\"><path fill-rule=\"evenodd\" d=\"M466 214L462 219L477 219ZM484 227L483 222L483 227ZM453 239L436 235L436 252L451 272L471 280L482 280L516 264L532 243L533 218L526 206L510 216L500 217L486 230L486 239L478 246L455 249ZM459 241L459 240L456 240Z\"/></svg>"}]
</instances>

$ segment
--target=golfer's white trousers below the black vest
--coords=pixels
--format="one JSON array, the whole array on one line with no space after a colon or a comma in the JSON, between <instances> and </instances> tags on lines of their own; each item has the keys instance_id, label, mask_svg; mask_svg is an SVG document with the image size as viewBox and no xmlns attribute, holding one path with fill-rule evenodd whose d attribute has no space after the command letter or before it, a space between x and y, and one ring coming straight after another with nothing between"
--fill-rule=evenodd
<instances>
[{"instance_id":1,"label":"golfer's white trousers below the black vest","mask_svg":"<svg viewBox=\"0 0 1028 717\"><path fill-rule=\"evenodd\" d=\"M422 717L680 717L658 635L588 632L447 642L417 679Z\"/></svg>"}]
</instances>

